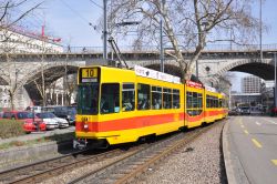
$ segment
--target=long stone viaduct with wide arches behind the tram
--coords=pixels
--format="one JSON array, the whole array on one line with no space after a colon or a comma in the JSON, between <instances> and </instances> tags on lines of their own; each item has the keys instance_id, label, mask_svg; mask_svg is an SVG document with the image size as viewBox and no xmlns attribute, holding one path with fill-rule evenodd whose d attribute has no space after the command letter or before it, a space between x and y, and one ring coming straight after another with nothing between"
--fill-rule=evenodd
<instances>
[{"instance_id":1,"label":"long stone viaduct with wide arches behind the tram","mask_svg":"<svg viewBox=\"0 0 277 184\"><path fill-rule=\"evenodd\" d=\"M274 80L274 53L276 49L265 50L263 61L259 51L205 51L198 60L198 78L203 83L213 85L227 71L252 73L264 80ZM191 52L183 53L185 59ZM160 53L124 52L122 55L127 64L160 69ZM0 57L0 85L17 86L16 108L25 108L32 99L38 99L35 82L42 80L41 71L45 75L45 85L66 74L76 73L79 67L104 65L102 53L59 53L59 54L13 54ZM195 70L196 71L196 70ZM165 55L165 72L179 75L177 63L170 55Z\"/></svg>"}]
</instances>

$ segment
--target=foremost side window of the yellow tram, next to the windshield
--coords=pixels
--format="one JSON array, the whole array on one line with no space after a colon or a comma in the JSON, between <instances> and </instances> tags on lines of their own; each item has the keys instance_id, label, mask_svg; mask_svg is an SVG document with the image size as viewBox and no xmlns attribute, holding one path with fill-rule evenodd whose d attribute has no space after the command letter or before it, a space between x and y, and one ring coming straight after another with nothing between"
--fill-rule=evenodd
<instances>
[{"instance_id":1,"label":"foremost side window of the yellow tram, next to the windshield","mask_svg":"<svg viewBox=\"0 0 277 184\"><path fill-rule=\"evenodd\" d=\"M120 112L120 84L103 83L101 86L101 114Z\"/></svg>"}]
</instances>

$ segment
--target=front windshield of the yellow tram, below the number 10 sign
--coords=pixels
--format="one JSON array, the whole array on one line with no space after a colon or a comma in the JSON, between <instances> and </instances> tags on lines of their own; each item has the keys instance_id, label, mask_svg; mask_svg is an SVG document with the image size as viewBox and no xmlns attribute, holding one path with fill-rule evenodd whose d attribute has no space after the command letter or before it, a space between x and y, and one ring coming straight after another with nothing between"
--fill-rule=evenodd
<instances>
[{"instance_id":1,"label":"front windshield of the yellow tram, below the number 10 sign","mask_svg":"<svg viewBox=\"0 0 277 184\"><path fill-rule=\"evenodd\" d=\"M98 114L99 83L82 83L78 88L78 113Z\"/></svg>"}]
</instances>

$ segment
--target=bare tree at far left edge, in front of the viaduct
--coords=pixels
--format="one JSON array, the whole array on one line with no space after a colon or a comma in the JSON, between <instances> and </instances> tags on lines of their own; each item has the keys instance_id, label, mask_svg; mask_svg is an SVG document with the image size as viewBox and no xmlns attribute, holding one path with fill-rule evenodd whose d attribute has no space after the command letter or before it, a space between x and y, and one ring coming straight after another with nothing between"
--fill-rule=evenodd
<instances>
[{"instance_id":1,"label":"bare tree at far left edge, in front of the viaduct","mask_svg":"<svg viewBox=\"0 0 277 184\"><path fill-rule=\"evenodd\" d=\"M22 43L22 40L21 38L14 39L14 32L11 30L13 25L22 21L41 4L34 4L22 13L18 13L21 12L19 10L25 3L28 3L28 0L3 0L0 2L0 52L6 58L6 63L1 67L1 74L6 78L8 83L8 85L6 85L6 91L8 91L10 108L12 110L14 109L14 95L20 88L18 85L18 75L21 72L21 69L19 69L14 61L13 54L20 50L18 45ZM24 41L28 42L28 40Z\"/></svg>"}]
</instances>

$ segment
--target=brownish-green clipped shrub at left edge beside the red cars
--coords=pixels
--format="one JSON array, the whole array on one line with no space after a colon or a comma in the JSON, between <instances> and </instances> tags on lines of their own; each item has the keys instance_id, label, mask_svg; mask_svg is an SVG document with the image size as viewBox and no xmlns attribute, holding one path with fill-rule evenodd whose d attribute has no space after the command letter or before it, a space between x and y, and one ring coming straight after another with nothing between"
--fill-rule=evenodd
<instances>
[{"instance_id":1,"label":"brownish-green clipped shrub at left edge beside the red cars","mask_svg":"<svg viewBox=\"0 0 277 184\"><path fill-rule=\"evenodd\" d=\"M0 120L1 139L8 139L23 134L25 134L23 130L23 122L16 120Z\"/></svg>"}]
</instances>

